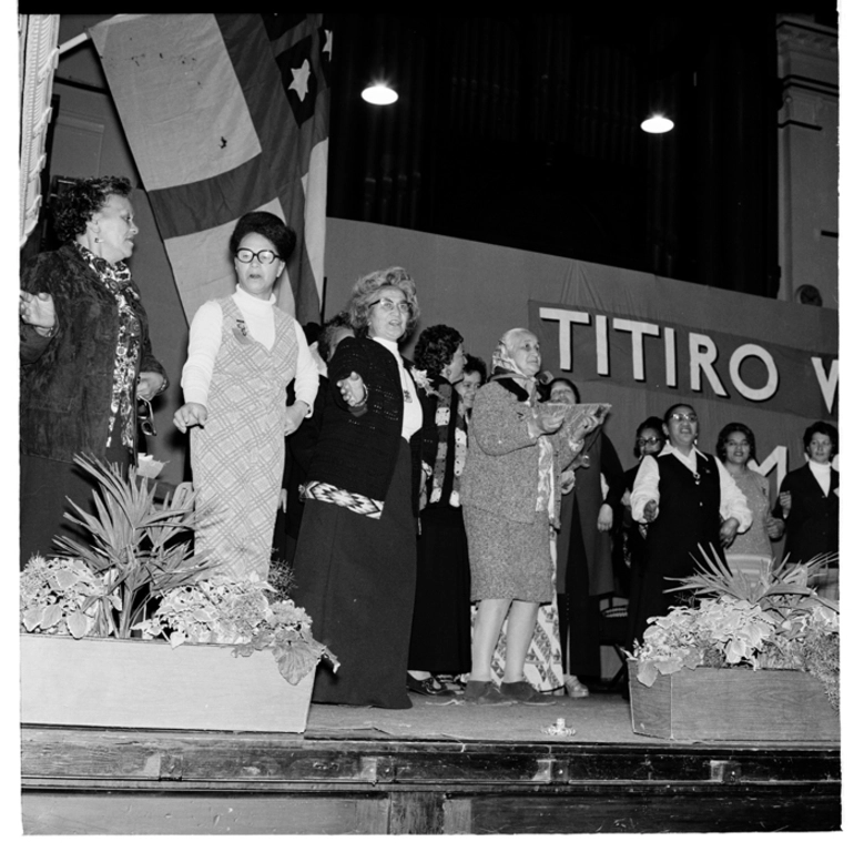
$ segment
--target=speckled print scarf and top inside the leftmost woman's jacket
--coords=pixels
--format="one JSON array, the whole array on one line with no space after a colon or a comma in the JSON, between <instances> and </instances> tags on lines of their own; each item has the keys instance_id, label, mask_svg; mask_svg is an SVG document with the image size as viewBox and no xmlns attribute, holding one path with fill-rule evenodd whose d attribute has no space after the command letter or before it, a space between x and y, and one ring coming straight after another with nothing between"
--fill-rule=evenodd
<instances>
[{"instance_id":1,"label":"speckled print scarf and top inside the leftmost woman's jacket","mask_svg":"<svg viewBox=\"0 0 854 852\"><path fill-rule=\"evenodd\" d=\"M106 429L106 446L112 440L113 426L116 416L121 423L122 446L133 452L135 445L134 405L136 399L136 367L140 361L142 345L142 324L140 317L129 302L128 295L134 301L140 294L131 278L131 271L121 261L108 263L98 257L80 243L77 246L89 268L95 274L104 287L112 293L119 307L119 335L115 341L115 363L113 365L113 392L110 400L110 422Z\"/></svg>"}]
</instances>

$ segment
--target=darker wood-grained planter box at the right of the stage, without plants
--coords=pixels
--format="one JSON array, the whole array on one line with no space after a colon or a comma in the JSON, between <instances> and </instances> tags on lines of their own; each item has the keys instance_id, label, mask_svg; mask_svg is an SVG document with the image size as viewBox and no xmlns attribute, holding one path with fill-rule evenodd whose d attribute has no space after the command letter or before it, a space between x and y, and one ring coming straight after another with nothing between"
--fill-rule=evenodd
<instances>
[{"instance_id":1,"label":"darker wood-grained planter box at the right of the stage, without plants","mask_svg":"<svg viewBox=\"0 0 854 852\"><path fill-rule=\"evenodd\" d=\"M814 741L840 739L840 711L803 671L682 669L651 687L629 660L634 733L669 740Z\"/></svg>"}]
</instances>

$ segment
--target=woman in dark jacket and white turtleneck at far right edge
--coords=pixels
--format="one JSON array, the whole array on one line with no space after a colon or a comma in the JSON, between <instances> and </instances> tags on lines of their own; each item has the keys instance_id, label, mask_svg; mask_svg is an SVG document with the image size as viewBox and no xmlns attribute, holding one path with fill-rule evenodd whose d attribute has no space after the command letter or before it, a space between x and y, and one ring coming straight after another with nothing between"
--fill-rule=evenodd
<instances>
[{"instance_id":1,"label":"woman in dark jacket and white turtleneck at far right edge","mask_svg":"<svg viewBox=\"0 0 854 852\"><path fill-rule=\"evenodd\" d=\"M838 453L840 433L817 422L804 432L809 460L783 478L774 516L785 521L789 562L831 555L822 577L811 578L822 595L838 596L840 473L831 465ZM835 574L835 576L834 576Z\"/></svg>"}]
</instances>

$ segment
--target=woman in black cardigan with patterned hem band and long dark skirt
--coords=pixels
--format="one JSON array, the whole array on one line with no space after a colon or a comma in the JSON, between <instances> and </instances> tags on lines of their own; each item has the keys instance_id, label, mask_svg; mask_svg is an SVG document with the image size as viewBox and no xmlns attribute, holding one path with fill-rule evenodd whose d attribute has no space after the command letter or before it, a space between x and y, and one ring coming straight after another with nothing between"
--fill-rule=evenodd
<instances>
[{"instance_id":1,"label":"woman in black cardigan with patterned hem band and long dark skirt","mask_svg":"<svg viewBox=\"0 0 854 852\"><path fill-rule=\"evenodd\" d=\"M415 283L399 266L363 276L349 318L304 486L294 600L340 662L317 669L314 701L405 709L423 437L435 434L398 351L418 321Z\"/></svg>"}]
</instances>

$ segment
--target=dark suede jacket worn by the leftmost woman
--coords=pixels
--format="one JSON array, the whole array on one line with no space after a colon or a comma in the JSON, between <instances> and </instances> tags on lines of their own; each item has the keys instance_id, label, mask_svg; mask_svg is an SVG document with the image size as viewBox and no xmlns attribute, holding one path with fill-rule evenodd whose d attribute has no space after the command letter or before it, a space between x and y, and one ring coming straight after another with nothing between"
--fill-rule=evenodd
<instances>
[{"instance_id":1,"label":"dark suede jacket worn by the leftmost woman","mask_svg":"<svg viewBox=\"0 0 854 852\"><path fill-rule=\"evenodd\" d=\"M50 293L58 326L53 337L40 337L23 323L19 326L21 453L58 462L72 462L75 453L101 456L119 333L115 298L71 244L33 257L22 271L21 290ZM142 324L138 371L165 378L151 352L148 318L135 285L125 295Z\"/></svg>"}]
</instances>

